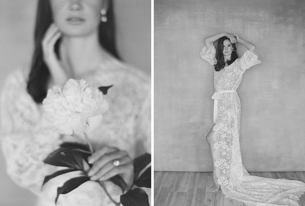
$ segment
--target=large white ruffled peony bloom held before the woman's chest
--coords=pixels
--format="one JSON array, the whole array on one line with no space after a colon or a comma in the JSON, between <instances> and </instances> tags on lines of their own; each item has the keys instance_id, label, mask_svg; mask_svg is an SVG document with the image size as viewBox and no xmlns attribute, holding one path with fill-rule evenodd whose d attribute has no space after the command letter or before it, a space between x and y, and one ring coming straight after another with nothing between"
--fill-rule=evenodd
<instances>
[{"instance_id":1,"label":"large white ruffled peony bloom held before the woman's chest","mask_svg":"<svg viewBox=\"0 0 305 206\"><path fill-rule=\"evenodd\" d=\"M63 87L49 89L42 104L43 128L70 135L94 131L109 109L99 89L90 87L85 80L74 79Z\"/></svg>"}]
</instances>

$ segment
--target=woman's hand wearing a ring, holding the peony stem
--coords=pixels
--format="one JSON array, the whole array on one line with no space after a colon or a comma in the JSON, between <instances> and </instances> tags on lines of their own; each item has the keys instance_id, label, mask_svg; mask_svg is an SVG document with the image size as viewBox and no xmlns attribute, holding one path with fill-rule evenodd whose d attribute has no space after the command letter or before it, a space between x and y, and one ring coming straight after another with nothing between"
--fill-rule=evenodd
<instances>
[{"instance_id":1,"label":"woman's hand wearing a ring, holding the peony stem","mask_svg":"<svg viewBox=\"0 0 305 206\"><path fill-rule=\"evenodd\" d=\"M120 162L117 166L114 164L116 160ZM132 159L126 151L104 146L95 151L88 158L88 162L93 164L88 172L91 180L99 179L104 181L113 176L120 175L127 184L126 188L130 188L134 179L134 167Z\"/></svg>"}]
</instances>

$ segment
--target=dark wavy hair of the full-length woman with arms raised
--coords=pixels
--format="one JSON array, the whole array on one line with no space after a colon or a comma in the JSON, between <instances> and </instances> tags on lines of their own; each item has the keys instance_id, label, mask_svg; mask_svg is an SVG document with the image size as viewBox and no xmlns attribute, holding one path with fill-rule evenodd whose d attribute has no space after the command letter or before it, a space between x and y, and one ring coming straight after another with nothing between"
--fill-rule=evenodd
<instances>
[{"instance_id":1,"label":"dark wavy hair of the full-length woman with arms raised","mask_svg":"<svg viewBox=\"0 0 305 206\"><path fill-rule=\"evenodd\" d=\"M224 55L222 54L222 52L224 51L224 40L226 40L226 39L228 39L230 41L230 39L228 37L221 37L218 39L216 55L215 55L217 63L214 64L214 69L217 72L219 72L221 69L223 69L225 66L225 63L226 63L226 62L224 62ZM235 43L233 43L232 45L233 45L234 50L232 51L232 54L231 54L231 60L230 61L227 60L228 65L232 64L236 59L238 59Z\"/></svg>"}]
</instances>

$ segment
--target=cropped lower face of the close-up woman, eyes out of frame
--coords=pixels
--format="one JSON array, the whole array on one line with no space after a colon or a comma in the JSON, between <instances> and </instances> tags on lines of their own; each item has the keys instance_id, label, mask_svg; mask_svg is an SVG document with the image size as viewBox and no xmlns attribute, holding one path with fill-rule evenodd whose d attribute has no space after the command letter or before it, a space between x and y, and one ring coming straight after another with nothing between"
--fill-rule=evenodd
<instances>
[{"instance_id":1,"label":"cropped lower face of the close-up woman, eyes out of frame","mask_svg":"<svg viewBox=\"0 0 305 206\"><path fill-rule=\"evenodd\" d=\"M50 0L54 22L64 35L90 35L98 29L102 1L105 0Z\"/></svg>"}]
</instances>

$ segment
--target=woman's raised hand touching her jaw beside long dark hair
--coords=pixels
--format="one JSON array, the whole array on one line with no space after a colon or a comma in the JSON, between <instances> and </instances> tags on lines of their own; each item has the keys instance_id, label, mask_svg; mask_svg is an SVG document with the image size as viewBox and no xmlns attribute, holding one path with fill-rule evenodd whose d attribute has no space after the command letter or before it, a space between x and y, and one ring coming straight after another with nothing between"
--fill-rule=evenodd
<instances>
[{"instance_id":1,"label":"woman's raised hand touching her jaw beside long dark hair","mask_svg":"<svg viewBox=\"0 0 305 206\"><path fill-rule=\"evenodd\" d=\"M55 84L63 85L67 80L67 75L63 70L54 51L56 41L61 37L59 28L52 23L42 40L43 59L50 69L52 80Z\"/></svg>"}]
</instances>

